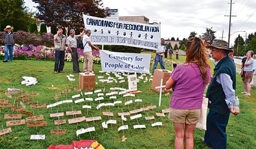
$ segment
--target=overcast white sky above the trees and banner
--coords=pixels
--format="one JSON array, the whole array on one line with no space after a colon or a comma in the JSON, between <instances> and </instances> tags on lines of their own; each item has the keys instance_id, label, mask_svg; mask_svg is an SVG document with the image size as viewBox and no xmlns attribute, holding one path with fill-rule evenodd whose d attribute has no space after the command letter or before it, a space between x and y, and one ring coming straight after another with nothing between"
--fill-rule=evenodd
<instances>
[{"instance_id":1,"label":"overcast white sky above the trees and banner","mask_svg":"<svg viewBox=\"0 0 256 149\"><path fill-rule=\"evenodd\" d=\"M36 6L31 0L25 0L26 6L32 11ZM103 0L104 7L118 9L119 16L145 16L150 22L161 22L161 36L164 38L179 37L187 38L190 32L202 35L206 27L217 31L215 36L220 39L224 30L224 40L228 40L228 23L230 0ZM233 0L231 17L231 33L256 31L256 1L255 0ZM248 20L247 20L248 19ZM245 22L246 21L246 22ZM235 38L245 32L237 32L231 35L230 43L234 44ZM245 37L244 37L245 38Z\"/></svg>"}]
</instances>

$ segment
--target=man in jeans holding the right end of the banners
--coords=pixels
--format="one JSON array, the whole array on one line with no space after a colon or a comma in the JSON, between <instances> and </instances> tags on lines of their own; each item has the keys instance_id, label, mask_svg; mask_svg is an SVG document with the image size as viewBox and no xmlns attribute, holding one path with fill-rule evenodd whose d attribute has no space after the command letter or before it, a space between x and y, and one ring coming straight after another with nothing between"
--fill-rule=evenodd
<instances>
[{"instance_id":1,"label":"man in jeans holding the right end of the banners","mask_svg":"<svg viewBox=\"0 0 256 149\"><path fill-rule=\"evenodd\" d=\"M162 70L165 69L163 53L165 53L166 49L167 48L164 44L164 38L161 38L161 51L156 51L155 62L154 62L154 67L153 67L153 72L152 72L153 74L154 74L154 71L155 71L159 62L160 62L160 65L161 65L161 69Z\"/></svg>"}]
</instances>

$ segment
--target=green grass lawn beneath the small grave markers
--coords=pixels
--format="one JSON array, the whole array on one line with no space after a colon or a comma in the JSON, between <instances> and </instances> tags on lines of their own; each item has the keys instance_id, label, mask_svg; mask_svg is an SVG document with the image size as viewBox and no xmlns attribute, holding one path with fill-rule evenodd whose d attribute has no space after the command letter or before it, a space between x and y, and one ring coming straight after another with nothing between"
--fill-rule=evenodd
<instances>
[{"instance_id":1,"label":"green grass lawn beneath the small grave markers","mask_svg":"<svg viewBox=\"0 0 256 149\"><path fill-rule=\"evenodd\" d=\"M154 55L152 55L154 56ZM175 58L173 56L173 58ZM176 60L174 60L176 61ZM185 57L180 57L180 62L185 61ZM213 70L213 61L210 61L211 69ZM40 93L40 96L29 98L34 100L36 103L55 103L60 100L72 99L71 96L78 94L80 92L75 92L74 88L78 87L79 75L74 74L76 78L75 82L69 82L66 75L72 73L72 63L65 62L64 74L54 74L53 73L54 62L53 61L32 61L32 60L14 60L11 63L1 63L0 64L0 88L7 90L7 88L19 88L23 91L29 93ZM96 72L101 70L101 65L94 64ZM80 63L80 68L82 68L82 63ZM172 70L172 67L166 67L168 70ZM96 73L99 76L99 73ZM113 75L113 74L112 74ZM22 76L32 76L38 79L38 83L35 86L24 86L21 85ZM139 75L138 75L139 76ZM149 76L148 76L149 77ZM184 76L186 77L186 76ZM107 78L105 75L104 78ZM99 80L97 78L97 80ZM98 82L98 81L97 81ZM52 87L52 85L54 87ZM104 89L106 92L111 92L110 87L122 87L128 88L127 79L123 84L107 84L99 83L96 85L96 89ZM54 100L54 95L57 92L61 92L65 89L71 89L72 91L67 94L61 94L58 100ZM26 125L10 126L12 131L11 133L0 136L0 148L47 148L51 144L71 144L72 140L79 141L80 139L89 139L97 140L105 148L174 148L175 133L173 124L168 121L168 114L165 114L165 117L156 117L155 112L161 112L162 109L167 109L169 107L169 99L162 96L162 105L157 107L157 109L151 111L142 112L141 118L130 120L129 116L127 121L124 121L122 124L120 116L117 116L118 112L128 112L131 110L139 109L143 106L148 105L158 105L159 102L159 93L152 91L151 94L148 94L148 91L151 89L151 82L143 83L142 80L138 83L138 89L142 93L137 94L136 97L123 98L120 95L117 95L117 100L122 100L123 104L112 107L102 107L101 110L96 110L96 106L99 102L93 101L91 104L88 101L75 104L61 104L59 106L46 109L46 107L41 109L30 109L30 105L26 104L26 111L34 113L34 115L44 115L44 120L47 121L46 127L30 127L27 128ZM240 99L240 114L238 116L230 115L229 123L227 126L227 148L255 148L256 146L256 104L255 104L255 89L251 92L251 97L242 96L240 93L243 91L243 85L239 75L237 75L237 89L236 96ZM85 92L85 91L82 91ZM14 103L15 98L21 96L20 94L13 94L13 98L9 99L9 103ZM86 96L84 96L86 97ZM97 98L96 94L91 96L93 99ZM4 93L0 93L1 99L7 99ZM107 97L104 97L105 100L101 103L113 102L114 100L109 100ZM142 103L134 103L135 99L142 99ZM125 106L124 102L128 100L133 100L133 103L129 106ZM82 105L92 105L92 110L82 109ZM17 106L17 102L15 103ZM20 105L18 105L20 106ZM68 125L68 119L74 118L74 116L66 116L66 113L63 117L59 119L66 119L67 124L64 125L54 125L54 120L58 120L57 117L50 118L50 113L59 113L66 111L76 111L81 110L82 114L77 115L77 117L86 116L101 116L103 121L109 119L116 119L117 124L108 125L108 129L104 129L101 126L102 121L83 121L78 124ZM102 112L113 112L114 117L103 116ZM4 114L16 114L19 112L11 112L9 107L0 108L0 129L8 128L6 127L6 121L11 119L4 119ZM146 121L144 116L155 116L156 119L152 121ZM22 119L27 118L28 116L22 115ZM13 119L14 120L14 119ZM151 127L152 123L156 121L162 121L164 126L162 127ZM146 129L133 129L133 125L144 124ZM122 125L128 125L129 129L124 131L117 131L118 127ZM76 136L76 130L81 128L88 128L95 126L96 131L91 133L81 134L80 137ZM52 129L64 129L66 134L51 135ZM31 134L45 134L45 140L30 140ZM121 141L121 137L125 136L127 138L126 142ZM194 133L194 146L195 148L208 148L200 142L200 138L204 136L204 131L196 129Z\"/></svg>"}]
</instances>

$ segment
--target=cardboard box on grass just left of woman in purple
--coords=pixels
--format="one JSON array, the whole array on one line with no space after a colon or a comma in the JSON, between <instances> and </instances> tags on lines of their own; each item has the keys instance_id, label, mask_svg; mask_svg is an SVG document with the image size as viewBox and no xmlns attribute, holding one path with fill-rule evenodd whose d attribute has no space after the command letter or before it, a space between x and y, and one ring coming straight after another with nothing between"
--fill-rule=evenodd
<instances>
[{"instance_id":1,"label":"cardboard box on grass just left of woman in purple","mask_svg":"<svg viewBox=\"0 0 256 149\"><path fill-rule=\"evenodd\" d=\"M166 70L168 71L168 70ZM153 75L153 81L152 81L152 85L151 85L151 89L159 92L160 89L155 89L155 87L160 86L161 84L161 79L163 79L163 86L166 84L167 80L170 77L170 73L172 73L171 71L168 72L163 72L163 70L155 70L154 71L154 75ZM165 88L162 88L162 92L167 92L165 90Z\"/></svg>"}]
</instances>

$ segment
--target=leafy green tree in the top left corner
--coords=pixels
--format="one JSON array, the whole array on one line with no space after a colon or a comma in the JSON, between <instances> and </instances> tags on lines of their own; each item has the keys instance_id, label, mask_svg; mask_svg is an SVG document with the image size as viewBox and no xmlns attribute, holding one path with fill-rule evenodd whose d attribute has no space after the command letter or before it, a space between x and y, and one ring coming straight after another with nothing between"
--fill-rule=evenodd
<instances>
[{"instance_id":1,"label":"leafy green tree in the top left corner","mask_svg":"<svg viewBox=\"0 0 256 149\"><path fill-rule=\"evenodd\" d=\"M14 31L29 31L30 24L34 21L33 14L28 12L23 0L0 1L0 28L6 25L14 26Z\"/></svg>"}]
</instances>

